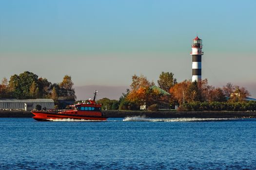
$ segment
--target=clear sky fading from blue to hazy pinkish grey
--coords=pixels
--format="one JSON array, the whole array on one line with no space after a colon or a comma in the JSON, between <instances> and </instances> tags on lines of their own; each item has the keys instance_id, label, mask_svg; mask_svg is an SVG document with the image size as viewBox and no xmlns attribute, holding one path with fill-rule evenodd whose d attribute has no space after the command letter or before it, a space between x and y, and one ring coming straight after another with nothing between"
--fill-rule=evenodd
<instances>
[{"instance_id":1,"label":"clear sky fading from blue to hazy pinkish grey","mask_svg":"<svg viewBox=\"0 0 256 170\"><path fill-rule=\"evenodd\" d=\"M143 74L192 79L192 39L202 78L245 86L256 98L256 0L0 0L0 79L31 71L71 75L78 99L118 99Z\"/></svg>"}]
</instances>

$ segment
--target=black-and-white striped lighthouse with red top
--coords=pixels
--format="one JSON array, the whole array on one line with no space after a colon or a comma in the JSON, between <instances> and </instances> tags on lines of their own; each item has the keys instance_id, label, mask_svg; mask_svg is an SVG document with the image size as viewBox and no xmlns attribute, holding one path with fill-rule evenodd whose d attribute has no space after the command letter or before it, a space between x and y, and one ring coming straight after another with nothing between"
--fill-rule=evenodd
<instances>
[{"instance_id":1,"label":"black-and-white striped lighthouse with red top","mask_svg":"<svg viewBox=\"0 0 256 170\"><path fill-rule=\"evenodd\" d=\"M198 36L192 40L192 82L202 80L202 40Z\"/></svg>"}]
</instances>

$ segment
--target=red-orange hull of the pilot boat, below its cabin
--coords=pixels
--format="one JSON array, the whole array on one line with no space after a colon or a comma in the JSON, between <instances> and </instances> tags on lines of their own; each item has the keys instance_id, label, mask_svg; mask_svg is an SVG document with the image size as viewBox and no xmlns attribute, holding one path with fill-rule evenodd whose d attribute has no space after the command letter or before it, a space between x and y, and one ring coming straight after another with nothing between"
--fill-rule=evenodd
<instances>
[{"instance_id":1,"label":"red-orange hull of the pilot boat, below its cabin","mask_svg":"<svg viewBox=\"0 0 256 170\"><path fill-rule=\"evenodd\" d=\"M83 120L98 120L105 121L107 117L103 116L88 116L88 115L72 115L72 114L60 114L51 112L32 111L35 116L33 119L38 121L51 121L52 119L83 119Z\"/></svg>"}]
</instances>

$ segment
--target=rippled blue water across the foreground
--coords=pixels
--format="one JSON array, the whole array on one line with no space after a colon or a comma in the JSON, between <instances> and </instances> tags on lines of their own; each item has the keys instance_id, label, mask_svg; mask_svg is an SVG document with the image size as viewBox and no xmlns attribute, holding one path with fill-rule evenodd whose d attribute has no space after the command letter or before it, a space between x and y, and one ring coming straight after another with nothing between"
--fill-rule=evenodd
<instances>
[{"instance_id":1,"label":"rippled blue water across the foreground","mask_svg":"<svg viewBox=\"0 0 256 170\"><path fill-rule=\"evenodd\" d=\"M256 169L256 119L0 119L0 169Z\"/></svg>"}]
</instances>

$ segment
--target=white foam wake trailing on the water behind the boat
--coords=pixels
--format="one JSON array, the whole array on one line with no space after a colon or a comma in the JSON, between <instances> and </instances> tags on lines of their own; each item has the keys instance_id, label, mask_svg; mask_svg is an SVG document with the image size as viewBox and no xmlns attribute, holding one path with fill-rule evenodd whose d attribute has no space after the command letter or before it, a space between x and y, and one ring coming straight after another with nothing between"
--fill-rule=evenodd
<instances>
[{"instance_id":1,"label":"white foam wake trailing on the water behind the boat","mask_svg":"<svg viewBox=\"0 0 256 170\"><path fill-rule=\"evenodd\" d=\"M170 118L170 119L152 119L145 116L126 117L123 121L151 121L151 122L186 122L186 121L221 121L221 120L235 120L229 118Z\"/></svg>"}]
</instances>

